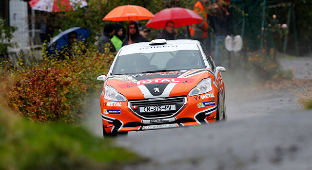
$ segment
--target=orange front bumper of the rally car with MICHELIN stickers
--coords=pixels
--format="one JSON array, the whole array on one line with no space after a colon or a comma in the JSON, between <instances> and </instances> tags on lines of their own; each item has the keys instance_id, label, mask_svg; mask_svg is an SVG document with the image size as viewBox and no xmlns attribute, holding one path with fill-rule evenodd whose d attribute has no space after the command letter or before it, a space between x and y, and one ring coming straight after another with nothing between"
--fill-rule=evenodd
<instances>
[{"instance_id":1,"label":"orange front bumper of the rally car with MICHELIN stickers","mask_svg":"<svg viewBox=\"0 0 312 170\"><path fill-rule=\"evenodd\" d=\"M198 96L169 97L159 100L133 100L112 102L101 100L101 112L104 129L107 133L122 131L144 131L164 128L176 128L199 124L214 123L217 98L213 93ZM177 100L178 99L178 100ZM184 101L181 101L184 99ZM158 101L158 102L157 102ZM152 105L176 104L175 111L145 112L140 107ZM153 115L154 114L154 115Z\"/></svg>"}]
</instances>

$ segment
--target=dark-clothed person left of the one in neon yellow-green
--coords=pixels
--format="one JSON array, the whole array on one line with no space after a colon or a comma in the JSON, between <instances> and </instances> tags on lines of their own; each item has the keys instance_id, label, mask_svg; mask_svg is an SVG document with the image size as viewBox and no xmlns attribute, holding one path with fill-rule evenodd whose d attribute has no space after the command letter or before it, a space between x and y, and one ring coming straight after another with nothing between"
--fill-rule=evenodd
<instances>
[{"instance_id":1,"label":"dark-clothed person left of the one in neon yellow-green","mask_svg":"<svg viewBox=\"0 0 312 170\"><path fill-rule=\"evenodd\" d=\"M98 51L105 52L105 47L108 47L111 52L116 52L115 46L111 41L111 38L115 34L115 26L113 24L105 24L103 35L99 38ZM107 44L108 43L108 44Z\"/></svg>"}]
</instances>

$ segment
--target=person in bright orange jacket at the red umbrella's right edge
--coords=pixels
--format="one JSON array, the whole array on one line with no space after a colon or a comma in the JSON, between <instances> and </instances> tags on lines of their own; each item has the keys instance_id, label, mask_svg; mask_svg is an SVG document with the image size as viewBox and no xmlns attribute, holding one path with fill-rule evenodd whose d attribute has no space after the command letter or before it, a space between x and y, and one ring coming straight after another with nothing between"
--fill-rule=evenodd
<instances>
[{"instance_id":1,"label":"person in bright orange jacket at the red umbrella's right edge","mask_svg":"<svg viewBox=\"0 0 312 170\"><path fill-rule=\"evenodd\" d=\"M208 0L198 0L194 5L194 11L203 17L203 21L198 24L193 24L189 27L191 37L200 41L204 46L206 46L206 41L208 38L208 22L207 22L207 2Z\"/></svg>"}]
</instances>

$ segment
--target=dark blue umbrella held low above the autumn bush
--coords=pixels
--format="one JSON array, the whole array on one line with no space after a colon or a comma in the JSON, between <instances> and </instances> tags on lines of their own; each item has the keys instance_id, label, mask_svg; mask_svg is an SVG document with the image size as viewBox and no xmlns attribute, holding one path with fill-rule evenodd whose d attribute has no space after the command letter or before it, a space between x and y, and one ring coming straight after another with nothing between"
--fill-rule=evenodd
<instances>
[{"instance_id":1,"label":"dark blue umbrella held low above the autumn bush","mask_svg":"<svg viewBox=\"0 0 312 170\"><path fill-rule=\"evenodd\" d=\"M81 27L73 27L70 29L67 29L61 33L59 33L57 36L53 37L53 39L50 41L48 45L48 55L55 54L55 50L59 51L63 46L66 46L68 43L68 33L75 31L78 34L78 41L84 41L87 39L90 30L81 28Z\"/></svg>"}]
</instances>

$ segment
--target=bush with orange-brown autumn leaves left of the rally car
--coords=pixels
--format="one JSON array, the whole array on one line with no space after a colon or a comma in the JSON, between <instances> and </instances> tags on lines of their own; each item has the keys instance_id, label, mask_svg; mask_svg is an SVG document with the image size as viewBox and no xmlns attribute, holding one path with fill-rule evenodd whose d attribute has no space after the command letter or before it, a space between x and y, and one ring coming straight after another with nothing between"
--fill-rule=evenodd
<instances>
[{"instance_id":1,"label":"bush with orange-brown autumn leaves left of the rally car","mask_svg":"<svg viewBox=\"0 0 312 170\"><path fill-rule=\"evenodd\" d=\"M44 56L41 64L29 67L20 62L19 68L8 70L15 80L7 91L8 105L24 118L35 121L80 120L87 99L101 86L96 78L108 72L114 54L99 54L83 44L74 50L79 55L65 60Z\"/></svg>"}]
</instances>

